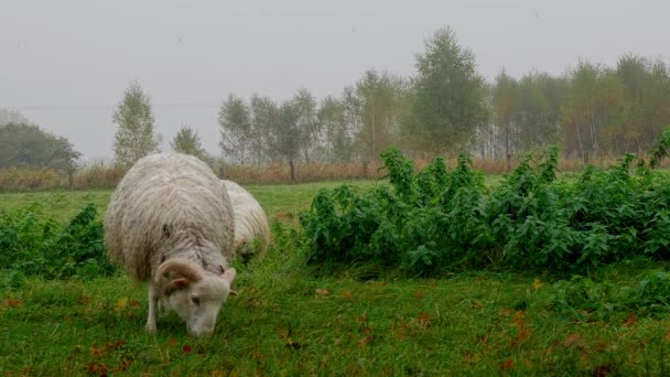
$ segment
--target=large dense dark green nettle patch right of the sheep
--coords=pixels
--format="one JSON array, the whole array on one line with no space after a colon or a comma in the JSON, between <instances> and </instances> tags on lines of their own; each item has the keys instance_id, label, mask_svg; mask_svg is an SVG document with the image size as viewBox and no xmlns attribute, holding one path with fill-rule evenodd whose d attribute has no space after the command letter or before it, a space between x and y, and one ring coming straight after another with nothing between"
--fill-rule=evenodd
<instances>
[{"instance_id":1,"label":"large dense dark green nettle patch right of the sheep","mask_svg":"<svg viewBox=\"0 0 670 377\"><path fill-rule=\"evenodd\" d=\"M322 191L301 214L312 263L375 262L412 273L485 267L582 272L639 255L670 256L670 179L627 154L559 181L559 149L527 154L488 192L472 160L436 158L414 173L397 148L381 154L388 184Z\"/></svg>"}]
</instances>

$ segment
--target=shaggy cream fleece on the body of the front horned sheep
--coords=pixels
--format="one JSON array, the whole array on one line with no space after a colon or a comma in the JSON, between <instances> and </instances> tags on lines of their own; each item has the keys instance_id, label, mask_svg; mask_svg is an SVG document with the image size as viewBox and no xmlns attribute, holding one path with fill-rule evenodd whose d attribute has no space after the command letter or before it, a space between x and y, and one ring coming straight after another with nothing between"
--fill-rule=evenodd
<instances>
[{"instance_id":1,"label":"shaggy cream fleece on the body of the front horned sheep","mask_svg":"<svg viewBox=\"0 0 670 377\"><path fill-rule=\"evenodd\" d=\"M225 187L207 164L185 154L138 161L105 216L110 259L138 281L150 281L162 261L188 252L205 269L227 268L233 241L233 207Z\"/></svg>"}]
</instances>

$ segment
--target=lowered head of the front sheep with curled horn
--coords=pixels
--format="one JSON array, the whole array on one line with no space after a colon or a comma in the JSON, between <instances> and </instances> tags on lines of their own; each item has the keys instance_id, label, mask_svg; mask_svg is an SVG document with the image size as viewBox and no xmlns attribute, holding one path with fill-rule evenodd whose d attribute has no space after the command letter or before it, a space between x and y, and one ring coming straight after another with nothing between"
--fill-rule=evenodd
<instances>
[{"instance_id":1,"label":"lowered head of the front sheep with curled horn","mask_svg":"<svg viewBox=\"0 0 670 377\"><path fill-rule=\"evenodd\" d=\"M214 332L216 317L236 276L234 268L217 274L188 259L173 258L159 267L155 283L164 288L164 299L186 322L188 333L203 336Z\"/></svg>"}]
</instances>

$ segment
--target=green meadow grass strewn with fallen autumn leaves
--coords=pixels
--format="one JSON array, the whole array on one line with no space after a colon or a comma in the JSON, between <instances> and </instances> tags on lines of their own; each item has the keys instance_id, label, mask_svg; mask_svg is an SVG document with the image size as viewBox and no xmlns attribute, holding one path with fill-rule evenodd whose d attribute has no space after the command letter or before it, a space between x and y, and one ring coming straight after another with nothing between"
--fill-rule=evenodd
<instances>
[{"instance_id":1,"label":"green meadow grass strewn with fallen autumn leaves","mask_svg":"<svg viewBox=\"0 0 670 377\"><path fill-rule=\"evenodd\" d=\"M271 219L295 224L318 188L334 185L247 188ZM67 219L86 202L104 213L109 195L0 194L0 211L43 201ZM86 282L29 279L0 292L0 375L574 376L662 375L669 367L662 308L572 312L558 305L564 283L508 271L436 280L382 272L366 280L375 267L352 266L323 276L294 251L235 261L239 294L207 338L191 337L175 314L159 319L158 334L144 333L147 287L123 273ZM635 291L648 271L664 267L634 261L591 278Z\"/></svg>"}]
</instances>

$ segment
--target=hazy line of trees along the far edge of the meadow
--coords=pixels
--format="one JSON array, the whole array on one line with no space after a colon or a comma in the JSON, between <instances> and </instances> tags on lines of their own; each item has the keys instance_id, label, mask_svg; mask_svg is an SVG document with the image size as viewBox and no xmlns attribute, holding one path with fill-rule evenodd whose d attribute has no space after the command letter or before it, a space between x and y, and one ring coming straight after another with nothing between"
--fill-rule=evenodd
<instances>
[{"instance_id":1,"label":"hazy line of trees along the far edge of the meadow","mask_svg":"<svg viewBox=\"0 0 670 377\"><path fill-rule=\"evenodd\" d=\"M282 101L230 94L218 111L223 160L287 163L293 176L299 162L367 166L389 146L409 155L468 150L511 164L525 151L556 144L563 155L588 161L644 152L670 123L670 75L660 60L629 54L613 67L581 61L562 75L531 71L514 77L502 69L487 83L474 53L445 28L424 41L412 77L368 71L321 100L306 88ZM118 164L159 150L151 98L139 83L130 84L112 120ZM170 146L217 160L186 126Z\"/></svg>"}]
</instances>

